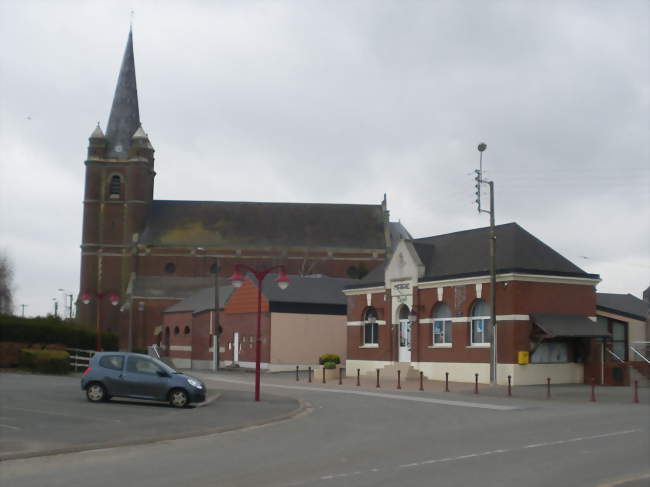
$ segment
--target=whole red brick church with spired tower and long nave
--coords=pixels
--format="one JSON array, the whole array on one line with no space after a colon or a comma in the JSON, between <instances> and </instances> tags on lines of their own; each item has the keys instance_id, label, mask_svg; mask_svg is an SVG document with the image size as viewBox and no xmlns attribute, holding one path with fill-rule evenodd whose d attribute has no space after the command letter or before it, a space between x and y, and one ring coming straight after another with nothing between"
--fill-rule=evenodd
<instances>
[{"instance_id":1,"label":"whole red brick church with spired tower and long nave","mask_svg":"<svg viewBox=\"0 0 650 487\"><path fill-rule=\"evenodd\" d=\"M236 264L295 275L363 277L400 238L376 205L154 199L154 148L140 123L129 32L104 133L85 161L79 321L116 333L121 349L160 340L163 310L227 284Z\"/></svg>"}]
</instances>

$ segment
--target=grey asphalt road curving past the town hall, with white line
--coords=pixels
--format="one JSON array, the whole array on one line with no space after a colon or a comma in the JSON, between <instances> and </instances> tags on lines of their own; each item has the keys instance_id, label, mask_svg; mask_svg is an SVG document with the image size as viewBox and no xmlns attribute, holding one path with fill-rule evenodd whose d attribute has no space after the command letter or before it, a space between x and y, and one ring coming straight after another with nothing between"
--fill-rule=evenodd
<instances>
[{"instance_id":1,"label":"grey asphalt road curving past the town hall, with white line","mask_svg":"<svg viewBox=\"0 0 650 487\"><path fill-rule=\"evenodd\" d=\"M250 391L249 375L219 377L227 381L214 382L222 389ZM638 479L650 474L647 403L341 393L265 377L263 392L271 390L313 408L265 427L8 461L0 464L0 481L16 487L580 487L625 479L637 479L628 486L646 485ZM492 407L499 405L508 409Z\"/></svg>"}]
</instances>

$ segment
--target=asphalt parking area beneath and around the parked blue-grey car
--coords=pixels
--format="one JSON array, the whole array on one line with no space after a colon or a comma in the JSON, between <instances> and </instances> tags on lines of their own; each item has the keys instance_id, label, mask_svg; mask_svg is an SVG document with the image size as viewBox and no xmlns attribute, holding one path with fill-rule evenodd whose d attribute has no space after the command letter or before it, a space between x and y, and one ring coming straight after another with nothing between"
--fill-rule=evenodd
<instances>
[{"instance_id":1,"label":"asphalt parking area beneath and around the parked blue-grey car","mask_svg":"<svg viewBox=\"0 0 650 487\"><path fill-rule=\"evenodd\" d=\"M73 376L0 373L0 390L0 460L226 431L300 409L290 397L255 403L248 392L217 387L208 388L206 403L186 409L118 398L91 404Z\"/></svg>"}]
</instances>

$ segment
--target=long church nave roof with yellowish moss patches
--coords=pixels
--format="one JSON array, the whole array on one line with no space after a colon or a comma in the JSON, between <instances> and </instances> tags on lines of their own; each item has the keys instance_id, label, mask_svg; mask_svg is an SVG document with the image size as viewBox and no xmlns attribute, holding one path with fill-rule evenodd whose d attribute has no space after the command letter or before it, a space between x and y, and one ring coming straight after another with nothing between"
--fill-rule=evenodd
<instances>
[{"instance_id":1,"label":"long church nave roof with yellowish moss patches","mask_svg":"<svg viewBox=\"0 0 650 487\"><path fill-rule=\"evenodd\" d=\"M140 243L383 250L384 211L381 205L156 200Z\"/></svg>"}]
</instances>

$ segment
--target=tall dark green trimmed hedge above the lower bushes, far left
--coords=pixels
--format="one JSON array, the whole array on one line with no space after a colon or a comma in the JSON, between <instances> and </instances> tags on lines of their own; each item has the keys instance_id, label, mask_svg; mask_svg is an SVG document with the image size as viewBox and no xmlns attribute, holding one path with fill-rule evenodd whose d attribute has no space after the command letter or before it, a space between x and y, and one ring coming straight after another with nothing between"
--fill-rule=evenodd
<instances>
[{"instance_id":1,"label":"tall dark green trimmed hedge above the lower bushes, far left","mask_svg":"<svg viewBox=\"0 0 650 487\"><path fill-rule=\"evenodd\" d=\"M102 348L117 350L118 339L114 333L102 333ZM0 341L39 344L61 344L68 348L94 349L96 334L87 328L48 316L45 318L21 318L0 316Z\"/></svg>"}]
</instances>

